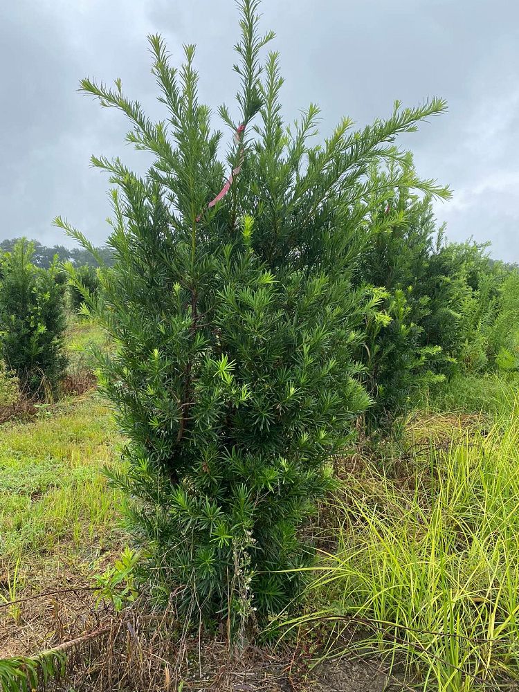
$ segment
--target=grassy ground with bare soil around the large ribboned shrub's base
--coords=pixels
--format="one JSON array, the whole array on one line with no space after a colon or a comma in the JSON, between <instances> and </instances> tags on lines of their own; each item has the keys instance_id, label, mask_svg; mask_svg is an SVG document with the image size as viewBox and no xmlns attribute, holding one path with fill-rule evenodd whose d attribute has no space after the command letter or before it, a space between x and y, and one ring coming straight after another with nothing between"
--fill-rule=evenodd
<instances>
[{"instance_id":1,"label":"grassy ground with bare soil around the large ribboned shrub's base","mask_svg":"<svg viewBox=\"0 0 519 692\"><path fill-rule=\"evenodd\" d=\"M80 349L98 338L91 325L69 330L73 368ZM167 624L161 615L156 641L143 623L135 641L117 641L122 614L128 619L135 604L118 612L94 590L95 575L107 574L127 545L122 498L104 475L118 464L122 438L98 392L71 394L3 424L0 671L1 659L109 626L115 641L102 639L88 655L81 648L84 660L67 689L141 689L135 681L143 666L131 671L139 648L159 662L148 664L149 689L162 689L164 680L174 690L513 687L516 394L513 376L459 378L410 413L397 437L378 446L358 441L341 457L340 485L314 522L318 558L298 616L238 659L221 635L187 632L172 613ZM175 641L166 645L166 636ZM135 650L122 654L120 646ZM107 672L110 659L117 673Z\"/></svg>"}]
</instances>

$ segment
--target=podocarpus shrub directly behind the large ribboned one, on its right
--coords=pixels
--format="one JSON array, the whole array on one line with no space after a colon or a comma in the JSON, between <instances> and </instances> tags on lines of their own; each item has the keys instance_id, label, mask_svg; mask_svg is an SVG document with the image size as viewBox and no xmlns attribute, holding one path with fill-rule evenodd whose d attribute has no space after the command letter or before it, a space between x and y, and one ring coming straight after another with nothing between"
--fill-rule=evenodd
<instances>
[{"instance_id":1,"label":"podocarpus shrub directly behind the large ribboned one, on its right","mask_svg":"<svg viewBox=\"0 0 519 692\"><path fill-rule=\"evenodd\" d=\"M399 165L412 167L412 158ZM444 277L437 275L430 262L436 248L431 200L413 194L405 185L388 185L394 168L391 162L387 170L376 165L370 170L374 188L386 192L370 215L372 233L356 271L356 283L373 286L381 297L367 314L360 356L366 367L363 381L374 399L365 417L370 432L377 428L388 432L397 418L416 405L425 388L443 378L441 366L448 356L439 344L428 340L424 325L434 311L435 319L446 327L453 311L453 296L442 295L445 302L439 304L433 289ZM448 189L438 194L448 197Z\"/></svg>"}]
</instances>

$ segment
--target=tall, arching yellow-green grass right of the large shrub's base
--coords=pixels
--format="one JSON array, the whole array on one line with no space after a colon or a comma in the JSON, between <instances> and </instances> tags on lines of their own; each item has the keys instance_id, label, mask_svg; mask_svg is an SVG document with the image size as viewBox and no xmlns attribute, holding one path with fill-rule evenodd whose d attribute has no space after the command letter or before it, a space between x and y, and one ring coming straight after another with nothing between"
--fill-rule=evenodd
<instances>
[{"instance_id":1,"label":"tall, arching yellow-green grass right of the large shrub's base","mask_svg":"<svg viewBox=\"0 0 519 692\"><path fill-rule=\"evenodd\" d=\"M323 555L309 592L322 608L303 619L335 623L325 656L340 653L357 623L364 635L349 650L403 666L419 689L517 684L519 399L500 402L491 426L451 417L445 430L444 416L446 448L430 416L421 435L430 447L416 447L415 421L422 451L405 482L384 471L394 464L347 477L330 508L338 548Z\"/></svg>"}]
</instances>

